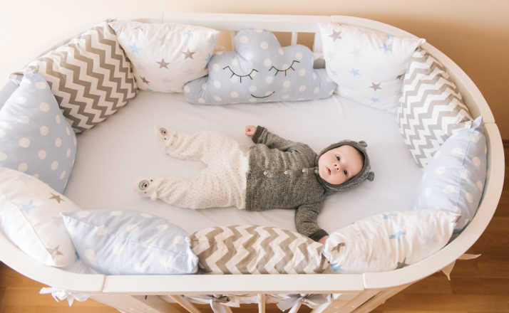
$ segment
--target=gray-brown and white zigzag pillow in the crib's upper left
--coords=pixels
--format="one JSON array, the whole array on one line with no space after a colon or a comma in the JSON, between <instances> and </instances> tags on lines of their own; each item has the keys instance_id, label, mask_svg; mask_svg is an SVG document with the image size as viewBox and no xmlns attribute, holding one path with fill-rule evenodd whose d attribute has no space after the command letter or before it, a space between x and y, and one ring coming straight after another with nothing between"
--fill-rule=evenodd
<instances>
[{"instance_id":1,"label":"gray-brown and white zigzag pillow in the crib's upper left","mask_svg":"<svg viewBox=\"0 0 509 313\"><path fill-rule=\"evenodd\" d=\"M37 58L26 70L46 79L75 132L91 129L136 95L130 61L105 21Z\"/></svg>"}]
</instances>

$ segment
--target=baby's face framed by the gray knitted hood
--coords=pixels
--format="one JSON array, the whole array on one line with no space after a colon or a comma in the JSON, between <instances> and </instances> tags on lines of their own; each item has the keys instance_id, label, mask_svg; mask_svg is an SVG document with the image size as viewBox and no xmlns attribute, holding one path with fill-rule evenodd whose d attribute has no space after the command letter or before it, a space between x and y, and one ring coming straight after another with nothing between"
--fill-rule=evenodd
<instances>
[{"instance_id":1,"label":"baby's face framed by the gray knitted hood","mask_svg":"<svg viewBox=\"0 0 509 313\"><path fill-rule=\"evenodd\" d=\"M325 152L318 159L318 174L329 184L339 185L359 174L364 166L361 152L344 145Z\"/></svg>"}]
</instances>

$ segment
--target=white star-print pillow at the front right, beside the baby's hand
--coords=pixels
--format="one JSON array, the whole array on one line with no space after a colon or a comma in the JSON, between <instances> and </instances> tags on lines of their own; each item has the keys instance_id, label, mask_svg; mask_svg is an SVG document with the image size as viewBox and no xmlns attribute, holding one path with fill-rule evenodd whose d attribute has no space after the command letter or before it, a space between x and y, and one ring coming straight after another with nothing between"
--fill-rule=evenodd
<instances>
[{"instance_id":1,"label":"white star-print pillow at the front right, beside the baby's hand","mask_svg":"<svg viewBox=\"0 0 509 313\"><path fill-rule=\"evenodd\" d=\"M377 214L331 233L324 255L339 274L396 270L446 245L457 219L441 210Z\"/></svg>"}]
</instances>

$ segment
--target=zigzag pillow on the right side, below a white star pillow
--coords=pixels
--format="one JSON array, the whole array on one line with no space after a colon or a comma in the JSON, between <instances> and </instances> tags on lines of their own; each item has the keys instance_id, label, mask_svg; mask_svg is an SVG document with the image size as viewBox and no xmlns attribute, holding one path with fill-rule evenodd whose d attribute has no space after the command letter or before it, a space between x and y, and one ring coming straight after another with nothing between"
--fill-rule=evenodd
<instances>
[{"instance_id":1,"label":"zigzag pillow on the right side, below a white star pillow","mask_svg":"<svg viewBox=\"0 0 509 313\"><path fill-rule=\"evenodd\" d=\"M422 49L412 55L400 102L400 132L419 166L426 166L448 137L473 120L446 69Z\"/></svg>"}]
</instances>

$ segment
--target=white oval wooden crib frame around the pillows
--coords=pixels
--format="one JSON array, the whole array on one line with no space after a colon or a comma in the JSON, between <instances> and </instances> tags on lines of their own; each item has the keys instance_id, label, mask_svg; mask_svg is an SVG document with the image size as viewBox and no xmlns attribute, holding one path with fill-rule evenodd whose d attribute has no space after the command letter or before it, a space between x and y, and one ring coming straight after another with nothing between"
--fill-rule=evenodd
<instances>
[{"instance_id":1,"label":"white oval wooden crib frame around the pillows","mask_svg":"<svg viewBox=\"0 0 509 313\"><path fill-rule=\"evenodd\" d=\"M241 28L290 32L292 44L297 43L297 33L317 33L318 22L347 23L394 36L413 36L385 23L351 16L170 13L139 20L202 25L230 31L232 36ZM318 38L315 36L315 52L321 51ZM488 104L456 63L429 43L424 43L423 48L448 68L472 115L483 116L489 150L485 194L477 214L456 240L426 260L399 270L355 275L81 275L34 262L0 234L1 261L33 280L58 289L91 295L98 302L115 307L120 312L178 312L159 297L161 295L169 296L189 312L199 312L182 295L210 294L259 295L259 312L265 312L264 295L276 293L341 293L340 297L314 312L370 312L389 297L441 270L465 253L488 226L502 193L505 170L503 144Z\"/></svg>"}]
</instances>

